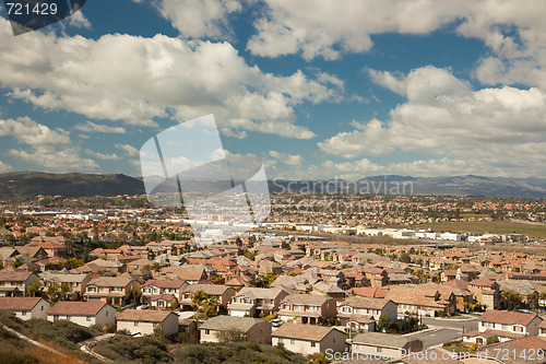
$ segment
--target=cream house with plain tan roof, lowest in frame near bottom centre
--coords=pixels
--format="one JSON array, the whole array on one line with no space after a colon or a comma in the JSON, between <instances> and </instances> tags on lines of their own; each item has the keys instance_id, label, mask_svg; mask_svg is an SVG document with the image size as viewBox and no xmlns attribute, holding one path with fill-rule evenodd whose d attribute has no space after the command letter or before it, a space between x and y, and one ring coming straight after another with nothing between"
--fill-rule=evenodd
<instances>
[{"instance_id":1,"label":"cream house with plain tan roof, lowest in frame near bottom centre","mask_svg":"<svg viewBox=\"0 0 546 364\"><path fill-rule=\"evenodd\" d=\"M286 322L271 334L272 345L283 344L301 355L323 353L327 350L344 352L345 332L334 327Z\"/></svg>"}]
</instances>

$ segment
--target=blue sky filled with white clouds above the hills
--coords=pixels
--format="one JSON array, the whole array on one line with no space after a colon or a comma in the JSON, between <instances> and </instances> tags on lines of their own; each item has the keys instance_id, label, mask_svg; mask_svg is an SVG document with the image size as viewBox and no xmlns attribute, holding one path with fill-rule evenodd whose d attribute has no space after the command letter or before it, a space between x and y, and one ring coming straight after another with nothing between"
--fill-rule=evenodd
<instances>
[{"instance_id":1,"label":"blue sky filled with white clouds above the hills","mask_svg":"<svg viewBox=\"0 0 546 364\"><path fill-rule=\"evenodd\" d=\"M14 36L0 172L140 176L213 114L270 178L546 177L546 1L93 0Z\"/></svg>"}]
</instances>

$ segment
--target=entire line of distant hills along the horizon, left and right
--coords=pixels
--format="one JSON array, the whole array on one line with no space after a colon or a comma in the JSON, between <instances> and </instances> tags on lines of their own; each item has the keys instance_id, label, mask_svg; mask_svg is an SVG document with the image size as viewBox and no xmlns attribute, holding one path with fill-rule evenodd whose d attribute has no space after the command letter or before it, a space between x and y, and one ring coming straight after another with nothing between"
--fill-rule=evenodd
<instances>
[{"instance_id":1,"label":"entire line of distant hills along the horizon, left and right","mask_svg":"<svg viewBox=\"0 0 546 364\"><path fill-rule=\"evenodd\" d=\"M215 181L212 181L214 185ZM288 190L316 193L380 193L380 195L452 195L546 198L546 179L491 178L474 175L451 177L372 176L356 181L329 180L270 180L273 193ZM11 172L0 174L0 200L28 198L37 195L86 197L144 193L142 179L122 174L49 174L40 172Z\"/></svg>"}]
</instances>

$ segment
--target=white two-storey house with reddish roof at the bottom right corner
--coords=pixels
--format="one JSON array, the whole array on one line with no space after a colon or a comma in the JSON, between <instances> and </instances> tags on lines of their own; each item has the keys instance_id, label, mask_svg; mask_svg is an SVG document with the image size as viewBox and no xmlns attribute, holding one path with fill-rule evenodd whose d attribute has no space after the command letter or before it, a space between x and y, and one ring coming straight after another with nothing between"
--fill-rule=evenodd
<instances>
[{"instance_id":1,"label":"white two-storey house with reddish roof at the bottom right corner","mask_svg":"<svg viewBox=\"0 0 546 364\"><path fill-rule=\"evenodd\" d=\"M465 332L463 341L482 345L488 339L505 342L529 334L537 336L542 321L536 314L488 309L479 317L477 331Z\"/></svg>"}]
</instances>

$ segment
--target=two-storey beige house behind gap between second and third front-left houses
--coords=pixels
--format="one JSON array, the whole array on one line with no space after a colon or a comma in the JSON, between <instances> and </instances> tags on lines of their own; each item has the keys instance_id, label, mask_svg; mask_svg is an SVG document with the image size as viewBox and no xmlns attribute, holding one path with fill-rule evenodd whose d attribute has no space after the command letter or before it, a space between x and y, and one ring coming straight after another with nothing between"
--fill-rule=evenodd
<instances>
[{"instance_id":1,"label":"two-storey beige house behind gap between second and third front-left houses","mask_svg":"<svg viewBox=\"0 0 546 364\"><path fill-rule=\"evenodd\" d=\"M139 281L129 275L99 277L87 283L85 298L87 301L100 300L108 304L122 306L130 302L131 291L140 287Z\"/></svg>"}]
</instances>

